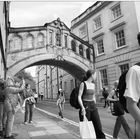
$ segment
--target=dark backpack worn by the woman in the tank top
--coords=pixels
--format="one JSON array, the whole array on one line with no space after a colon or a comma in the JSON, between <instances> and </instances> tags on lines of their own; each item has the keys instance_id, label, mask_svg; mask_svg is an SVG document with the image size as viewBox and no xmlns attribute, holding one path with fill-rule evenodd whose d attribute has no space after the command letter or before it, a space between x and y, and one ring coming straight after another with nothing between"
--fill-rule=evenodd
<instances>
[{"instance_id":1,"label":"dark backpack worn by the woman in the tank top","mask_svg":"<svg viewBox=\"0 0 140 140\"><path fill-rule=\"evenodd\" d=\"M85 93L86 91L86 84L85 82L84 83L84 91L83 93ZM70 102L70 105L72 107L74 107L75 109L80 109L80 105L79 105L79 102L78 102L78 94L79 94L79 87L76 87L72 90L71 94L70 94L70 99L69 99L69 102Z\"/></svg>"}]
</instances>

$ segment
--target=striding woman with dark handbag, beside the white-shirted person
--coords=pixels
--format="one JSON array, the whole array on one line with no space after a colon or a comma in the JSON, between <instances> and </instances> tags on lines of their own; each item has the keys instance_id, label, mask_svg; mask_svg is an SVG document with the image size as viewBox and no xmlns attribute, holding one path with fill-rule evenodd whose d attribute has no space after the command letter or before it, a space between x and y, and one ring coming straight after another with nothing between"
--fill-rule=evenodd
<instances>
[{"instance_id":1,"label":"striding woman with dark handbag, beside the white-shirted person","mask_svg":"<svg viewBox=\"0 0 140 140\"><path fill-rule=\"evenodd\" d=\"M130 130L130 127L128 126L124 118L124 109L119 102L119 94L118 94L117 86L118 86L118 81L115 81L113 90L111 91L111 93L109 94L107 98L107 100L110 101L111 113L112 115L116 116L116 122L114 126L114 131L113 131L113 138L116 139L118 137L119 131L121 129L121 125L123 126L128 138L133 138L133 133Z\"/></svg>"}]
</instances>

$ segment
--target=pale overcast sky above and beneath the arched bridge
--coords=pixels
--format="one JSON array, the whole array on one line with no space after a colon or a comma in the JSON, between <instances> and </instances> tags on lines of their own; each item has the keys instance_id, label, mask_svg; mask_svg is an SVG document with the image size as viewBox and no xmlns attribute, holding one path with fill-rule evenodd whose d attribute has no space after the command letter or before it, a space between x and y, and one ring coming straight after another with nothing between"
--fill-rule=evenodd
<instances>
[{"instance_id":1,"label":"pale overcast sky above and beneath the arched bridge","mask_svg":"<svg viewBox=\"0 0 140 140\"><path fill-rule=\"evenodd\" d=\"M93 2L15 2L10 3L10 22L11 27L27 27L27 26L43 26L47 22L51 22L58 17L68 27L71 21L84 12ZM26 69L35 76L35 67Z\"/></svg>"}]
</instances>

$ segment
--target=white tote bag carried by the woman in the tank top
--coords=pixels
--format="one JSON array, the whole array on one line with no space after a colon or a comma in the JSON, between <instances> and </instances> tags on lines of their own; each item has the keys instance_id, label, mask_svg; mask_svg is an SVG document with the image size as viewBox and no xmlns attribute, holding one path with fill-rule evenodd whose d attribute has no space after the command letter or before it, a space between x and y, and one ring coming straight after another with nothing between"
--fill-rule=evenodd
<instances>
[{"instance_id":1,"label":"white tote bag carried by the woman in the tank top","mask_svg":"<svg viewBox=\"0 0 140 140\"><path fill-rule=\"evenodd\" d=\"M86 116L84 116L84 120L79 122L80 136L82 139L93 138L96 139L95 129L92 121L88 121Z\"/></svg>"}]
</instances>

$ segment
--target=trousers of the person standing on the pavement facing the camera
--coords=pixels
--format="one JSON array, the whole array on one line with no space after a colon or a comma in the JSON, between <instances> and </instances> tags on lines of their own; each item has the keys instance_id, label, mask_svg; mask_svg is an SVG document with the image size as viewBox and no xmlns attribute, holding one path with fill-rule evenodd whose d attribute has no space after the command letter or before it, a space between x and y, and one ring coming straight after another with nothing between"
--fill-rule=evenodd
<instances>
[{"instance_id":1,"label":"trousers of the person standing on the pavement facing the camera","mask_svg":"<svg viewBox=\"0 0 140 140\"><path fill-rule=\"evenodd\" d=\"M25 104L24 122L27 122L28 118L29 118L29 122L32 121L33 107L34 107L34 104L29 104L28 102L26 102L26 104Z\"/></svg>"}]
</instances>

